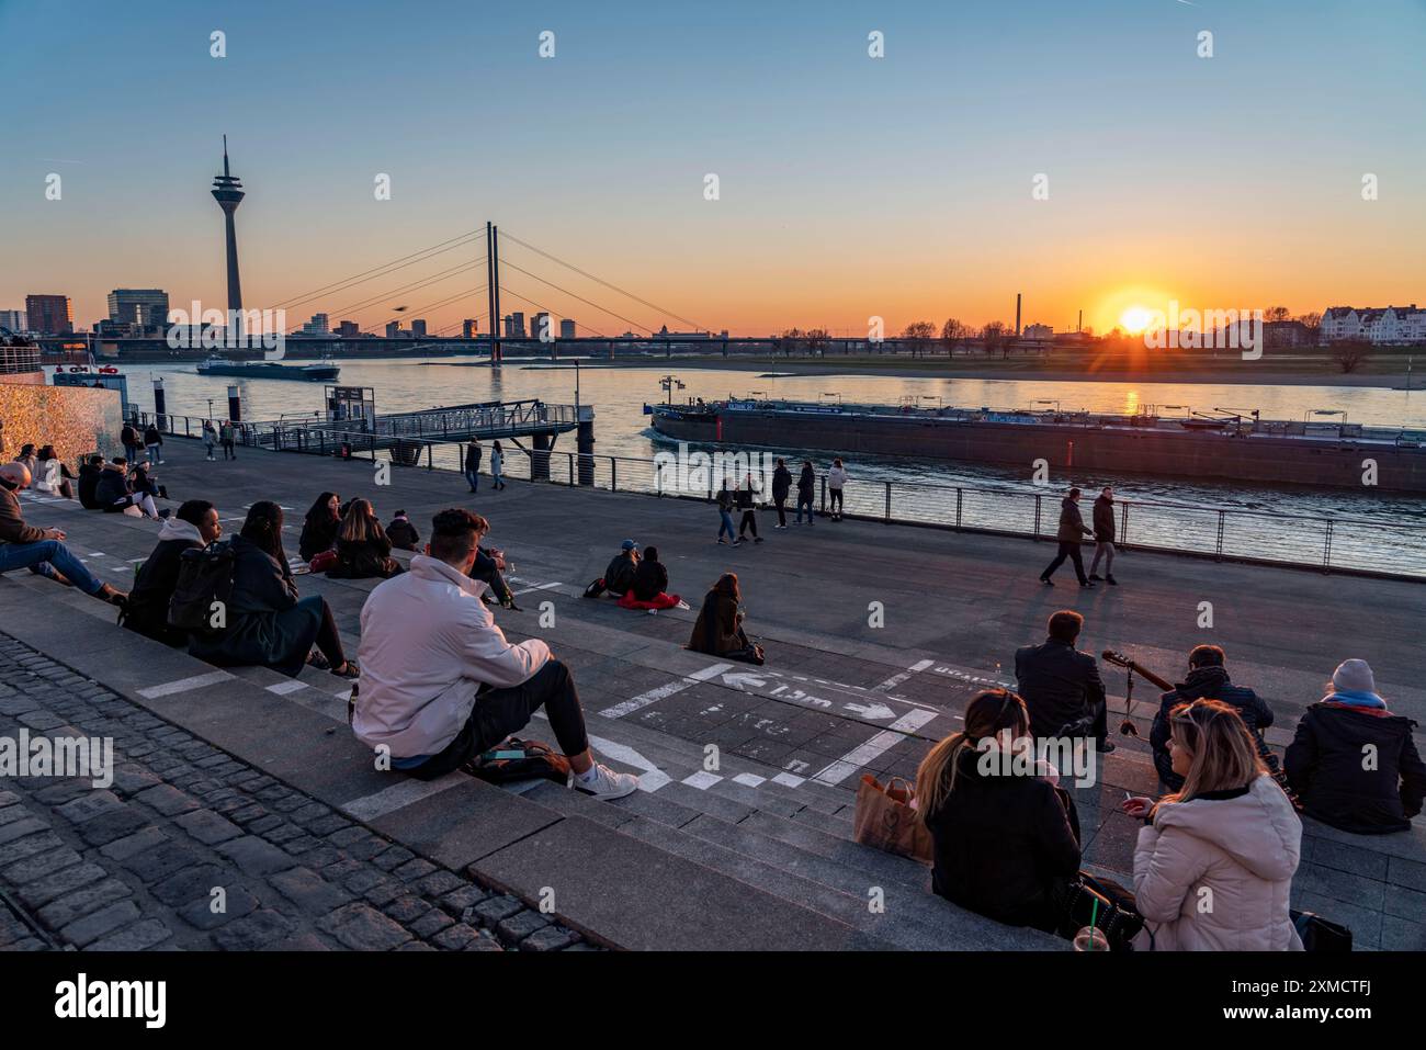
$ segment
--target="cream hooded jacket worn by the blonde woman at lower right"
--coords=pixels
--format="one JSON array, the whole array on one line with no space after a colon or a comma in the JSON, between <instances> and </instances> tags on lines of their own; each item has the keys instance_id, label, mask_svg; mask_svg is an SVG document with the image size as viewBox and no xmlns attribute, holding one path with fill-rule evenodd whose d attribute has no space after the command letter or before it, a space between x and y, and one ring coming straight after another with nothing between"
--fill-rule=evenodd
<instances>
[{"instance_id":1,"label":"cream hooded jacket worn by the blonde woman at lower right","mask_svg":"<svg viewBox=\"0 0 1426 1050\"><path fill-rule=\"evenodd\" d=\"M1155 952L1301 952L1288 899L1302 822L1271 776L1165 802L1139 832L1134 902Z\"/></svg>"}]
</instances>

